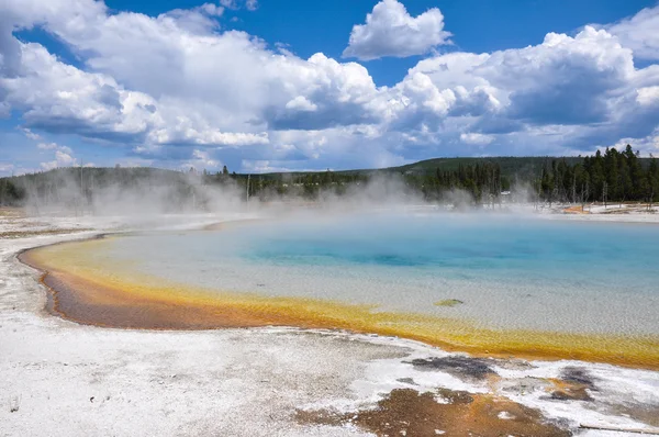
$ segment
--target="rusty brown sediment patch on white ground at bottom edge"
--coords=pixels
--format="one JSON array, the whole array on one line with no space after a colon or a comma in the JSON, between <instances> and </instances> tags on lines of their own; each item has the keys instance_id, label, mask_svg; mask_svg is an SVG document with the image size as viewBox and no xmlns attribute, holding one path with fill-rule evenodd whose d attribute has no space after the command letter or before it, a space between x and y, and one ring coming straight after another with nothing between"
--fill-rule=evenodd
<instances>
[{"instance_id":1,"label":"rusty brown sediment patch on white ground at bottom edge","mask_svg":"<svg viewBox=\"0 0 659 437\"><path fill-rule=\"evenodd\" d=\"M439 399L439 402L437 401ZM543 415L513 401L489 394L440 389L418 393L393 390L373 410L357 413L298 411L303 425L354 424L378 436L518 436L567 437L572 434Z\"/></svg>"}]
</instances>

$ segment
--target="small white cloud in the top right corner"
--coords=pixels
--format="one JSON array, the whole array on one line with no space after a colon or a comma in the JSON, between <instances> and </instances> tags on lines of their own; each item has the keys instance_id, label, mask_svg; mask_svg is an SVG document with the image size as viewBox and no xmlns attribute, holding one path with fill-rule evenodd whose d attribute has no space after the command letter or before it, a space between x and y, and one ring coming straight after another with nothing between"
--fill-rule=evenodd
<instances>
[{"instance_id":1,"label":"small white cloud in the top right corner","mask_svg":"<svg viewBox=\"0 0 659 437\"><path fill-rule=\"evenodd\" d=\"M634 57L659 60L659 5L646 8L636 15L605 29L634 51Z\"/></svg>"}]
</instances>

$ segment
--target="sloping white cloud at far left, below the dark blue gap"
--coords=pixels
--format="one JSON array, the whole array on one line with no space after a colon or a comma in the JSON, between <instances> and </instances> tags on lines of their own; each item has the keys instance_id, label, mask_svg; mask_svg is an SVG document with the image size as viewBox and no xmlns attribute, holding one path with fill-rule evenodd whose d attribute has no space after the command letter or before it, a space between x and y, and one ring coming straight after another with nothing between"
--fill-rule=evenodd
<instances>
[{"instance_id":1,"label":"sloping white cloud at far left, below the dark blue gap","mask_svg":"<svg viewBox=\"0 0 659 437\"><path fill-rule=\"evenodd\" d=\"M8 101L24 109L30 125L53 132L149 141L156 144L189 143L237 146L267 144L267 133L223 132L202 114L177 100L159 102L148 94L129 91L103 74L67 66L37 44L22 46L23 64L31 75L7 79Z\"/></svg>"}]
</instances>

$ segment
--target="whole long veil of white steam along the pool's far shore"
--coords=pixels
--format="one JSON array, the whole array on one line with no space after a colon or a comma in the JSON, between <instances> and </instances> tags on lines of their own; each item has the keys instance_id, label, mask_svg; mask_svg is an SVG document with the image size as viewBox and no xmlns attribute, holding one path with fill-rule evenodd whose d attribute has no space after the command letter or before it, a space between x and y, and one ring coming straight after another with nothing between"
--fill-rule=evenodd
<instances>
[{"instance_id":1,"label":"whole long veil of white steam along the pool's far shore","mask_svg":"<svg viewBox=\"0 0 659 437\"><path fill-rule=\"evenodd\" d=\"M323 187L294 183L283 176L286 192L261 189L248 195L247 180L228 175L200 175L153 168L67 168L13 178L25 193L24 206L32 215L161 215L193 213L287 212L291 209L355 211L396 209L410 205L442 206L445 210L505 208L530 203L537 198L529 184L510 192L485 194L477 201L467 190L453 189L424 195L405 183L400 173L373 172L350 182ZM252 183L260 183L257 177Z\"/></svg>"}]
</instances>

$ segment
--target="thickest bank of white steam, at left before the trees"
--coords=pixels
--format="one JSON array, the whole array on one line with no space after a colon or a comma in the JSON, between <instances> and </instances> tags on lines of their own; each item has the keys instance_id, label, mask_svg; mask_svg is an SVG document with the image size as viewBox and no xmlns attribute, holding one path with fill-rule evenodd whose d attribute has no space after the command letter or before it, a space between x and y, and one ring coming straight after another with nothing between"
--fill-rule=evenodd
<instances>
[{"instance_id":1,"label":"thickest bank of white steam, at left before the trees","mask_svg":"<svg viewBox=\"0 0 659 437\"><path fill-rule=\"evenodd\" d=\"M201 175L127 168L64 169L23 177L24 206L31 214L158 215L236 211L244 204L237 186L205 184Z\"/></svg>"}]
</instances>

